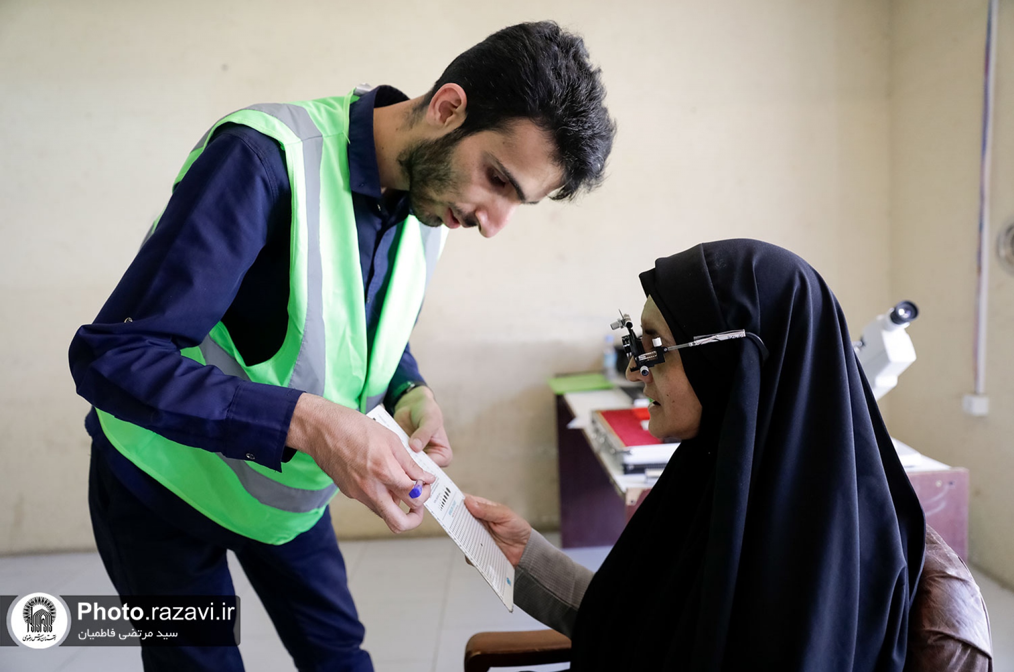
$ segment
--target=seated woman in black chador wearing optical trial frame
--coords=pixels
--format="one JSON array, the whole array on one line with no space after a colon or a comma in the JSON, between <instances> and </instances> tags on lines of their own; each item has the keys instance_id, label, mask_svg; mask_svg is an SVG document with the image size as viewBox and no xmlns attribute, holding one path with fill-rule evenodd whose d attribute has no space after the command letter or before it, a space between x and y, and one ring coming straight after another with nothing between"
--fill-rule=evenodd
<instances>
[{"instance_id":1,"label":"seated woman in black chador wearing optical trial frame","mask_svg":"<svg viewBox=\"0 0 1014 672\"><path fill-rule=\"evenodd\" d=\"M901 670L923 511L845 317L795 254L698 245L641 275L645 348L627 376L648 429L681 441L599 571L469 497L517 567L517 604L573 639L573 670Z\"/></svg>"}]
</instances>

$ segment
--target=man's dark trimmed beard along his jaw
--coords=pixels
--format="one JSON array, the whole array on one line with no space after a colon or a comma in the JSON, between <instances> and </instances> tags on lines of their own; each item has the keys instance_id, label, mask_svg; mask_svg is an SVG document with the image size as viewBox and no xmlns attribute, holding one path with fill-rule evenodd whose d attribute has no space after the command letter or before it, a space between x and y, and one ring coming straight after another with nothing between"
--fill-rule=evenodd
<instances>
[{"instance_id":1,"label":"man's dark trimmed beard along his jaw","mask_svg":"<svg viewBox=\"0 0 1014 672\"><path fill-rule=\"evenodd\" d=\"M441 226L442 213L432 211L437 207L438 194L452 194L456 191L451 154L464 136L458 130L436 140L420 140L407 147L397 157L409 178L409 207L412 214L426 226ZM427 208L430 206L431 208Z\"/></svg>"}]
</instances>

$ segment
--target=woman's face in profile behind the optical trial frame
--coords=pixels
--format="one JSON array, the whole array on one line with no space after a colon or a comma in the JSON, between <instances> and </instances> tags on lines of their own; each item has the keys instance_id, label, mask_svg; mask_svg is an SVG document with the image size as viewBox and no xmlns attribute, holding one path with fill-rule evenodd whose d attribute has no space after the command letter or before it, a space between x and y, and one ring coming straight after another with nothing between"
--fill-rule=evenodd
<instances>
[{"instance_id":1,"label":"woman's face in profile behind the optical trial frame","mask_svg":"<svg viewBox=\"0 0 1014 672\"><path fill-rule=\"evenodd\" d=\"M650 296L641 311L641 337L645 350L651 350L651 340L660 338L663 346L674 346L669 325ZM652 402L648 406L651 420L648 431L659 439L692 439L701 429L701 401L698 400L691 381L683 371L679 351L665 354L665 362L648 369L642 376L637 368L627 366L627 379L644 383L644 393Z\"/></svg>"}]
</instances>

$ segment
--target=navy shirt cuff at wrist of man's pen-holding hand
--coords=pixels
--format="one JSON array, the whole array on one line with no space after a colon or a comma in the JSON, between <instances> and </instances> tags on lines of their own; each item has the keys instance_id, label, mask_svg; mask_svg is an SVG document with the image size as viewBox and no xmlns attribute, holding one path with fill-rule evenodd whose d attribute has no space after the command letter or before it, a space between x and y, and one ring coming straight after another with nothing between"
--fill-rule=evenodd
<instances>
[{"instance_id":1,"label":"navy shirt cuff at wrist of man's pen-holding hand","mask_svg":"<svg viewBox=\"0 0 1014 672\"><path fill-rule=\"evenodd\" d=\"M222 454L281 471L292 412L302 393L291 387L241 382L226 414L229 434Z\"/></svg>"}]
</instances>

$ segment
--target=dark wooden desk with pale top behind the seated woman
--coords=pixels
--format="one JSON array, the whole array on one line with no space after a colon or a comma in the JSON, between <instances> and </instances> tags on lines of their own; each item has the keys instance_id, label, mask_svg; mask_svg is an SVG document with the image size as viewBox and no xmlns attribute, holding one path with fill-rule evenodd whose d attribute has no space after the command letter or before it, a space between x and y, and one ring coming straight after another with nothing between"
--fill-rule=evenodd
<instances>
[{"instance_id":1,"label":"dark wooden desk with pale top behind the seated woman","mask_svg":"<svg viewBox=\"0 0 1014 672\"><path fill-rule=\"evenodd\" d=\"M642 476L626 475L592 448L587 430L569 429L574 410L557 395L560 468L560 540L564 548L610 546L651 490ZM933 527L962 559L968 556L968 470L926 458L907 468Z\"/></svg>"}]
</instances>

